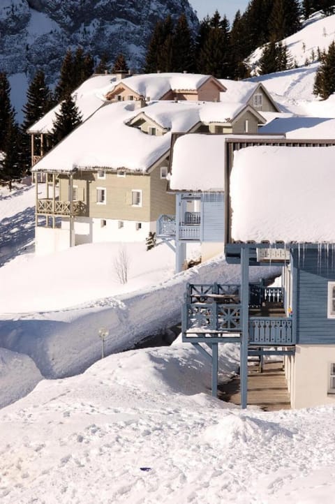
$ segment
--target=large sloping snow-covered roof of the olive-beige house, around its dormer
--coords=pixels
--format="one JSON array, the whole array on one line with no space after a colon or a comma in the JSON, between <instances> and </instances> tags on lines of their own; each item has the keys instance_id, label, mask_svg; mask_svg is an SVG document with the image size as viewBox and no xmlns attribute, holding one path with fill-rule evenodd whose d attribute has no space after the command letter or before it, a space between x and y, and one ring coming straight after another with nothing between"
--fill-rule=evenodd
<instances>
[{"instance_id":1,"label":"large sloping snow-covered roof of the olive-beige house, around its dormer","mask_svg":"<svg viewBox=\"0 0 335 504\"><path fill-rule=\"evenodd\" d=\"M168 117L174 131L186 132L198 122L198 114L189 114L188 108L185 112L184 103L162 102L149 105L145 110L156 108L156 105L161 114ZM38 161L33 170L68 172L100 167L147 171L170 149L171 133L147 135L127 126L138 113L134 106L133 102L106 102ZM183 113L177 112L179 108ZM197 110L197 105L193 104L193 109Z\"/></svg>"}]
</instances>

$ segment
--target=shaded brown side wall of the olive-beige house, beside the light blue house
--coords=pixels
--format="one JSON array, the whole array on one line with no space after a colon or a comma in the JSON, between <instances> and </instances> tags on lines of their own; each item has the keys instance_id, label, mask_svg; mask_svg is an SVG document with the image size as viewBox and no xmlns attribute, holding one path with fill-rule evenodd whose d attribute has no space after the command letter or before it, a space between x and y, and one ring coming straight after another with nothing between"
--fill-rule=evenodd
<instances>
[{"instance_id":1,"label":"shaded brown side wall of the olive-beige house, beside the light blue house","mask_svg":"<svg viewBox=\"0 0 335 504\"><path fill-rule=\"evenodd\" d=\"M162 161L150 174L150 221L156 221L161 214L176 213L174 194L168 194L168 181L161 179L161 166L168 166L169 161Z\"/></svg>"}]
</instances>

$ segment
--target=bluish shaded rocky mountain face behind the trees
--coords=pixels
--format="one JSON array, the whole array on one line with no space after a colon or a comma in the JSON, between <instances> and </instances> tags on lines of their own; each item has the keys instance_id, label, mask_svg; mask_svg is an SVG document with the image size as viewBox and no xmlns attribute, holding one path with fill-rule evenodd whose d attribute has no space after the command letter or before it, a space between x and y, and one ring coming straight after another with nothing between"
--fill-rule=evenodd
<instances>
[{"instance_id":1,"label":"bluish shaded rocky mountain face behind the trees","mask_svg":"<svg viewBox=\"0 0 335 504\"><path fill-rule=\"evenodd\" d=\"M0 71L30 80L38 66L54 82L66 50L78 45L97 61L103 52L110 61L122 52L138 71L156 22L182 13L197 29L188 0L1 0Z\"/></svg>"}]
</instances>

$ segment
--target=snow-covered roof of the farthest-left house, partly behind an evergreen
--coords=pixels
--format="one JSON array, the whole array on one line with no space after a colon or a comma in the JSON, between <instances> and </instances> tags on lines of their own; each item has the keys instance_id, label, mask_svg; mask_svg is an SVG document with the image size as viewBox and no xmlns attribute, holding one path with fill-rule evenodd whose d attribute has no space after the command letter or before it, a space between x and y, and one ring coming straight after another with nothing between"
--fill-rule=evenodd
<instances>
[{"instance_id":1,"label":"snow-covered roof of the farthest-left house, partly behind an evergreen","mask_svg":"<svg viewBox=\"0 0 335 504\"><path fill-rule=\"evenodd\" d=\"M115 75L94 75L85 80L80 87L73 91L72 96L78 110L82 114L83 121L103 105L104 99L98 91L113 81L115 81ZM60 108L61 103L58 103L52 110L36 121L29 128L28 133L50 133L56 119L56 113L59 113Z\"/></svg>"}]
</instances>

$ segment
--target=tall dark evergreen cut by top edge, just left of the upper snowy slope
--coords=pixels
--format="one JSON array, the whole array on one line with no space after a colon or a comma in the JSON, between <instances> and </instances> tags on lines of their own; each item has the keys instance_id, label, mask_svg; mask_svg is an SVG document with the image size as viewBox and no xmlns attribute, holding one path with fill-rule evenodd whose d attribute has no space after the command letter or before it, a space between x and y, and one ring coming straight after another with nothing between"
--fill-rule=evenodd
<instances>
[{"instance_id":1,"label":"tall dark evergreen cut by top edge, just left of the upper snowy slope","mask_svg":"<svg viewBox=\"0 0 335 504\"><path fill-rule=\"evenodd\" d=\"M294 34L300 27L300 6L297 0L274 0L269 19L270 36L281 40Z\"/></svg>"}]
</instances>

